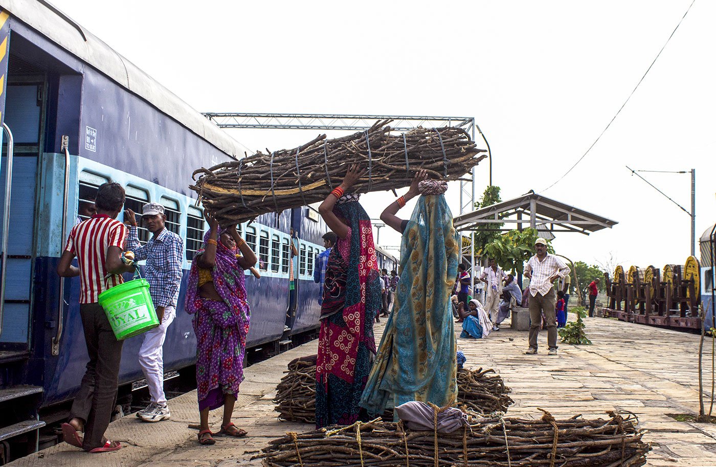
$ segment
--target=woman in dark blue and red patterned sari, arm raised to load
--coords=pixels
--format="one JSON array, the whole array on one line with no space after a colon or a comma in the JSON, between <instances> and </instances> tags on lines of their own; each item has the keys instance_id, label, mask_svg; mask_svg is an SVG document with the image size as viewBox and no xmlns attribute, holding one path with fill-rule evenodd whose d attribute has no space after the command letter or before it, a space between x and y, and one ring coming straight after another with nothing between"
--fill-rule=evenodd
<instances>
[{"instance_id":1,"label":"woman in dark blue and red patterned sari, arm raised to load","mask_svg":"<svg viewBox=\"0 0 716 467\"><path fill-rule=\"evenodd\" d=\"M347 191L361 177L353 165L319 213L338 240L328 259L321 304L316 361L316 427L350 425L362 415L358 405L375 355L373 322L382 300L373 227ZM362 417L364 418L364 416Z\"/></svg>"}]
</instances>

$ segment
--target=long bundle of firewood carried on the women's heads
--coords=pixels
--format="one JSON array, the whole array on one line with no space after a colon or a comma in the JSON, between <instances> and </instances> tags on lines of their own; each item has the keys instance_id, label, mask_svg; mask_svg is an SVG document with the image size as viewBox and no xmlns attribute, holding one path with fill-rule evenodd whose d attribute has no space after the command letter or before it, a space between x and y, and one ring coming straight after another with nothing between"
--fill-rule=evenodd
<instances>
[{"instance_id":1,"label":"long bundle of firewood carried on the women's heads","mask_svg":"<svg viewBox=\"0 0 716 467\"><path fill-rule=\"evenodd\" d=\"M196 183L190 188L221 223L232 223L322 201L354 163L366 173L352 191L367 193L409 186L421 168L430 178L458 180L486 157L479 155L484 150L475 148L462 128L418 127L393 133L389 122L376 122L369 130L343 138L319 135L298 148L259 151L200 168L193 173Z\"/></svg>"}]
</instances>

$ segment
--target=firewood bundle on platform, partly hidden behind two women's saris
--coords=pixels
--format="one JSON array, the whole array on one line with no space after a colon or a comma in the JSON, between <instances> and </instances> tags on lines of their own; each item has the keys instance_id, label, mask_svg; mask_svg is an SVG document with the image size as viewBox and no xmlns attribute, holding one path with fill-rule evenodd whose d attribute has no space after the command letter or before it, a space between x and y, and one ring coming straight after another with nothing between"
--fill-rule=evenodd
<instances>
[{"instance_id":1,"label":"firewood bundle on platform, partly hidden behind two women's saris","mask_svg":"<svg viewBox=\"0 0 716 467\"><path fill-rule=\"evenodd\" d=\"M458 370L458 406L479 414L505 412L514 402L495 370ZM281 420L316 423L316 355L289 363L274 398ZM386 415L392 420L392 415Z\"/></svg>"}]
</instances>

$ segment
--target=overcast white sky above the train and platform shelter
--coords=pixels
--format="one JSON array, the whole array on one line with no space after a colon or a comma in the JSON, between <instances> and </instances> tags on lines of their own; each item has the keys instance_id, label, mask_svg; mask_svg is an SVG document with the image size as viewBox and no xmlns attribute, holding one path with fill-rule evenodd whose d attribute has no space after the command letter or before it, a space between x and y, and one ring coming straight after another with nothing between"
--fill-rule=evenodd
<instances>
[{"instance_id":1,"label":"overcast white sky above the train and platform shelter","mask_svg":"<svg viewBox=\"0 0 716 467\"><path fill-rule=\"evenodd\" d=\"M624 165L697 170L697 239L716 222L716 2L697 0L599 143L691 0L54 0L200 111L474 116L503 199L530 189L618 221L558 234L574 261L683 264L690 218ZM316 131L234 130L251 149ZM479 144L478 140L478 146ZM689 208L688 175L643 174ZM488 164L478 166L478 198ZM364 196L378 217L385 193ZM458 214L458 186L448 199ZM402 213L408 216L412 204ZM383 228L380 243L399 244Z\"/></svg>"}]
</instances>

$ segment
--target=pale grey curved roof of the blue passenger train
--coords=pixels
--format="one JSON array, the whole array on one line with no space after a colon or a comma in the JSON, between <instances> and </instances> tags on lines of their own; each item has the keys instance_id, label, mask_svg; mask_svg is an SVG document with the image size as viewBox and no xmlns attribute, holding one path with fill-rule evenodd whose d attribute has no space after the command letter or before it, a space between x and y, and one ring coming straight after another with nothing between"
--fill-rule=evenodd
<instances>
[{"instance_id":1,"label":"pale grey curved roof of the blue passenger train","mask_svg":"<svg viewBox=\"0 0 716 467\"><path fill-rule=\"evenodd\" d=\"M243 154L241 145L221 128L49 2L0 0L0 6L227 155L238 158Z\"/></svg>"}]
</instances>

